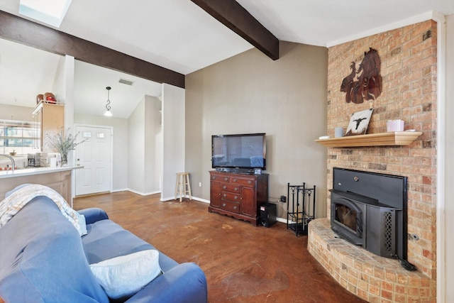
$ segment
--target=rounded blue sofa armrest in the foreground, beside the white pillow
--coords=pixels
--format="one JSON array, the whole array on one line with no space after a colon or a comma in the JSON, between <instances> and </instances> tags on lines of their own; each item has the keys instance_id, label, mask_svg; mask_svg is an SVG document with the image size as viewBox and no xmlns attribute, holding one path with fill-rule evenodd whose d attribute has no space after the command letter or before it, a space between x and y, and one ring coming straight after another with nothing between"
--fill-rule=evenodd
<instances>
[{"instance_id":1,"label":"rounded blue sofa armrest in the foreground, beside the white pillow","mask_svg":"<svg viewBox=\"0 0 454 303\"><path fill-rule=\"evenodd\" d=\"M194 263L182 263L145 286L125 303L206 303L208 290L204 272Z\"/></svg>"}]
</instances>

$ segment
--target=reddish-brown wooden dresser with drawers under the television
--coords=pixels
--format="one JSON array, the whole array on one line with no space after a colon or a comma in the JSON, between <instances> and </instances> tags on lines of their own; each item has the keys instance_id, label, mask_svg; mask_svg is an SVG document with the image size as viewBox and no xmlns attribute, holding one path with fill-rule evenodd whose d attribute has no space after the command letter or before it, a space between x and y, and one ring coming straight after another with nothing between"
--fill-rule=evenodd
<instances>
[{"instance_id":1,"label":"reddish-brown wooden dresser with drawers under the television","mask_svg":"<svg viewBox=\"0 0 454 303\"><path fill-rule=\"evenodd\" d=\"M268 175L210 172L208 211L250 221L257 226L260 206L268 202Z\"/></svg>"}]
</instances>

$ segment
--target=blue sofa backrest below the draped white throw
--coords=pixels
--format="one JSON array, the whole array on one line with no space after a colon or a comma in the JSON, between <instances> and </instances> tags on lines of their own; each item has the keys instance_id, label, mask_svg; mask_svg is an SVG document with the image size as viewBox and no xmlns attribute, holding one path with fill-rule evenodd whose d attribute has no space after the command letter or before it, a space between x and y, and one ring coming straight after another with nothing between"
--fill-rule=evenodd
<instances>
[{"instance_id":1,"label":"blue sofa backrest below the draped white throw","mask_svg":"<svg viewBox=\"0 0 454 303\"><path fill-rule=\"evenodd\" d=\"M0 248L6 302L109 302L79 233L46 197L33 199L0 228Z\"/></svg>"}]
</instances>

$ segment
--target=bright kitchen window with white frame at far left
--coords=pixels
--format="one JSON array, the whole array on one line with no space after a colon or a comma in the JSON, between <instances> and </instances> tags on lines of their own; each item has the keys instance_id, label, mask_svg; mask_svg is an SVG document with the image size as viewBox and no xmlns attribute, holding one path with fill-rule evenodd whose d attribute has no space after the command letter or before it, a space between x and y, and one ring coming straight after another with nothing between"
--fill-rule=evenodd
<instances>
[{"instance_id":1,"label":"bright kitchen window with white frame at far left","mask_svg":"<svg viewBox=\"0 0 454 303\"><path fill-rule=\"evenodd\" d=\"M0 153L36 153L40 146L40 125L30 121L0 120Z\"/></svg>"}]
</instances>

